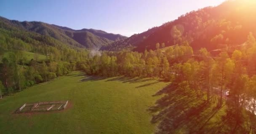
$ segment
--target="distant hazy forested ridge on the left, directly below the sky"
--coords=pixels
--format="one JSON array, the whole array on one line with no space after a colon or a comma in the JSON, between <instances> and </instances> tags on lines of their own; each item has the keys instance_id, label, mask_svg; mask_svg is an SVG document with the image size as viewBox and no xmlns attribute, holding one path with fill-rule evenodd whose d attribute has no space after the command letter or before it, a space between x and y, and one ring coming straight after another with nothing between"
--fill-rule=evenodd
<instances>
[{"instance_id":1,"label":"distant hazy forested ridge on the left, directly below the sky","mask_svg":"<svg viewBox=\"0 0 256 134\"><path fill-rule=\"evenodd\" d=\"M71 46L91 48L100 48L106 46L114 41L123 40L127 37L120 34L107 33L101 30L94 29L82 29L73 30L67 27L61 27L56 25L50 25L37 21L14 21L0 17L1 28L10 29L16 28L21 31L40 33L44 36L50 36L63 44L69 44Z\"/></svg>"}]
</instances>

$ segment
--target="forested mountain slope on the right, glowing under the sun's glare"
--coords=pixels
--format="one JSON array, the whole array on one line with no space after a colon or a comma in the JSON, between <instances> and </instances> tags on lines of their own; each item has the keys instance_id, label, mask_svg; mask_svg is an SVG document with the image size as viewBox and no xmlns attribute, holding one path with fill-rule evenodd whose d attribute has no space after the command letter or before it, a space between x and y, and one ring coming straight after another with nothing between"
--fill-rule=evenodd
<instances>
[{"instance_id":1,"label":"forested mountain slope on the right, glowing under the sun's glare","mask_svg":"<svg viewBox=\"0 0 256 134\"><path fill-rule=\"evenodd\" d=\"M256 2L228 0L216 7L206 7L181 15L178 19L118 41L106 50L135 48L143 52L157 43L172 46L189 41L193 49L208 50L243 44L249 32L256 33Z\"/></svg>"}]
</instances>

